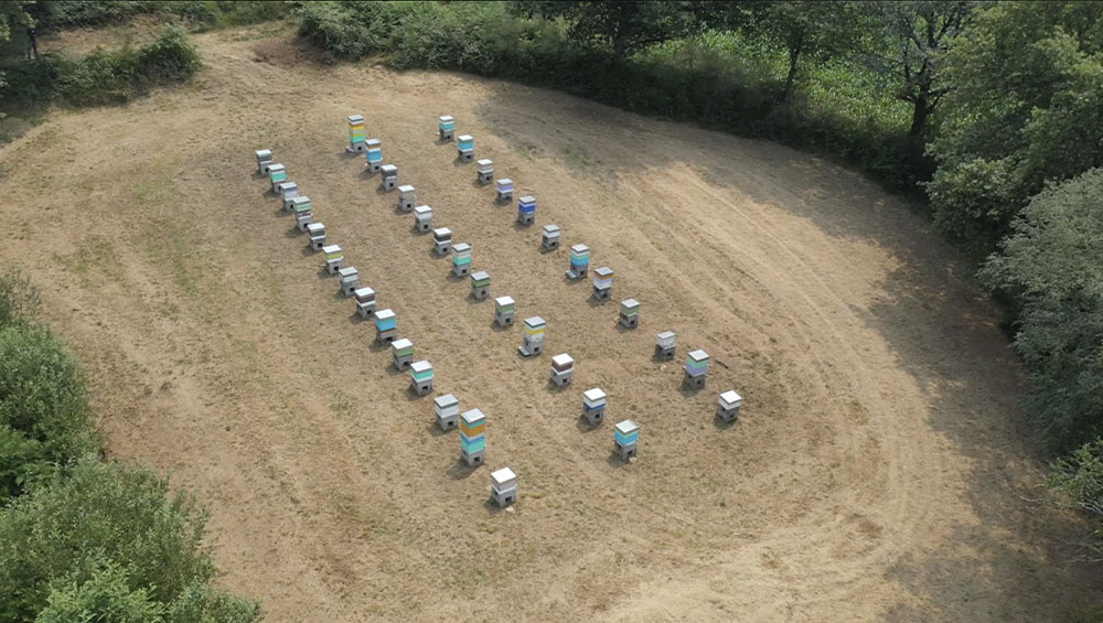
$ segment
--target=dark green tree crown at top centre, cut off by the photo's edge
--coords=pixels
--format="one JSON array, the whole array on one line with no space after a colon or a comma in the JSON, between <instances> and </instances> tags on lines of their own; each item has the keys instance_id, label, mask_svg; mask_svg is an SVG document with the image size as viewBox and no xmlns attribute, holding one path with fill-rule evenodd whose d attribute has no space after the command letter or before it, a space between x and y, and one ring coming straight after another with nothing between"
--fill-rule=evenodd
<instances>
[{"instance_id":1,"label":"dark green tree crown at top centre, cut off by the photo's edge","mask_svg":"<svg viewBox=\"0 0 1103 623\"><path fill-rule=\"evenodd\" d=\"M564 19L571 39L608 45L614 58L688 34L696 23L695 3L685 1L536 1L514 2L512 10L525 17Z\"/></svg>"}]
</instances>

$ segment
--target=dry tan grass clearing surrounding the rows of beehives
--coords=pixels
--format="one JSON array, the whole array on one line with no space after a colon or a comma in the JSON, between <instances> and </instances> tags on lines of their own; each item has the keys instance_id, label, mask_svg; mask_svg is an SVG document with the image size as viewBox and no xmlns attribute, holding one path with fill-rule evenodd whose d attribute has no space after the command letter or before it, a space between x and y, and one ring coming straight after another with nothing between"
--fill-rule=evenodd
<instances>
[{"instance_id":1,"label":"dry tan grass clearing surrounding the rows of beehives","mask_svg":"<svg viewBox=\"0 0 1103 623\"><path fill-rule=\"evenodd\" d=\"M323 67L254 31L201 37L194 85L57 114L0 151L26 267L87 364L110 452L168 470L212 511L224 583L271 621L365 619L1040 621L1093 593L1083 526L1029 502L1042 466L994 311L907 208L774 144L468 77ZM400 180L548 356L516 356L393 194L343 151L362 112ZM537 225L435 141L451 114L533 193ZM253 151L272 148L438 391L489 417L489 464L372 346L290 232ZM15 207L18 206L18 211ZM617 303L567 283L539 225L617 271ZM651 359L678 333L678 358ZM679 390L695 347L708 387ZM641 422L639 461L579 426L601 386ZM733 427L716 396L746 399ZM490 469L521 477L485 503ZM490 469L488 469L490 468ZM1059 604L1054 606L1054 604Z\"/></svg>"}]
</instances>

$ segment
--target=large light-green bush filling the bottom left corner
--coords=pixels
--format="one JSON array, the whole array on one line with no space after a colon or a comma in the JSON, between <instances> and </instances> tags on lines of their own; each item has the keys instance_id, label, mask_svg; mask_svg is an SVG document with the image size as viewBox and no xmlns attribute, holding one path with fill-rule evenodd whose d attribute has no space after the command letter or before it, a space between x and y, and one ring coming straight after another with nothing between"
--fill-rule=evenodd
<instances>
[{"instance_id":1,"label":"large light-green bush filling the bottom left corner","mask_svg":"<svg viewBox=\"0 0 1103 623\"><path fill-rule=\"evenodd\" d=\"M0 620L256 621L207 586L203 525L167 480L84 461L0 511Z\"/></svg>"}]
</instances>

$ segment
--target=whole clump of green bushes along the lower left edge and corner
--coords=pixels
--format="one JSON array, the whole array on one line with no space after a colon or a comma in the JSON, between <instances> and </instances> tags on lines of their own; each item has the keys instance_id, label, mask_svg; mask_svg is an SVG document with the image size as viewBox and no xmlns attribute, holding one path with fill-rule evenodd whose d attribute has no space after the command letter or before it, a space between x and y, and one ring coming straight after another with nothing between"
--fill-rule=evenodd
<instances>
[{"instance_id":1,"label":"whole clump of green bushes along the lower left edge and corner","mask_svg":"<svg viewBox=\"0 0 1103 623\"><path fill-rule=\"evenodd\" d=\"M205 515L165 479L104 462L78 362L0 276L0 621L246 623L211 584Z\"/></svg>"}]
</instances>

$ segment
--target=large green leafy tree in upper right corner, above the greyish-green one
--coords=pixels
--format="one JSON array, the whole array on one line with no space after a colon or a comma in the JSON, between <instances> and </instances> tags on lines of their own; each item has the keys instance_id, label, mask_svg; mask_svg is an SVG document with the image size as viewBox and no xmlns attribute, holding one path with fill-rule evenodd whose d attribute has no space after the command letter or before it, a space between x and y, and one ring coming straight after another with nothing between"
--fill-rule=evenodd
<instances>
[{"instance_id":1,"label":"large green leafy tree in upper right corner, above the greyish-green one","mask_svg":"<svg viewBox=\"0 0 1103 623\"><path fill-rule=\"evenodd\" d=\"M1002 2L946 57L935 223L978 256L1050 181L1103 165L1103 3Z\"/></svg>"}]
</instances>

